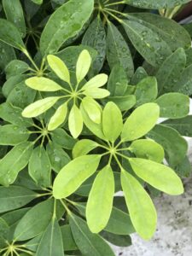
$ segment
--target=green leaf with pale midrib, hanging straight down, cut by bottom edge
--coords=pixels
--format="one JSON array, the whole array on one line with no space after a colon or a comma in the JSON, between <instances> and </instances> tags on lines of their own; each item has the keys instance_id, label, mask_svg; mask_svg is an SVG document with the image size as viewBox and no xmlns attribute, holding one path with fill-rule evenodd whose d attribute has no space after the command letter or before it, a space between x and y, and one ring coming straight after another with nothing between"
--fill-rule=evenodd
<instances>
[{"instance_id":1,"label":"green leaf with pale midrib, hanging straight down, cut by bottom edge","mask_svg":"<svg viewBox=\"0 0 192 256\"><path fill-rule=\"evenodd\" d=\"M57 219L52 219L44 230L36 255L64 256L61 229Z\"/></svg>"}]
</instances>

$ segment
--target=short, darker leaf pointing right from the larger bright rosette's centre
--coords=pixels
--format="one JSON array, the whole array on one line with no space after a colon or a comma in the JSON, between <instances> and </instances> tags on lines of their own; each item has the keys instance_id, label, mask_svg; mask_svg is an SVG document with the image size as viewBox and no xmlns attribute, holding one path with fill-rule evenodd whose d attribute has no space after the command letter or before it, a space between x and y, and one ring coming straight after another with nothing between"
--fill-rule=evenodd
<instances>
[{"instance_id":1,"label":"short, darker leaf pointing right from the larger bright rosette's centre","mask_svg":"<svg viewBox=\"0 0 192 256\"><path fill-rule=\"evenodd\" d=\"M137 140L129 148L138 158L144 158L161 163L165 157L164 149L152 140Z\"/></svg>"}]
</instances>

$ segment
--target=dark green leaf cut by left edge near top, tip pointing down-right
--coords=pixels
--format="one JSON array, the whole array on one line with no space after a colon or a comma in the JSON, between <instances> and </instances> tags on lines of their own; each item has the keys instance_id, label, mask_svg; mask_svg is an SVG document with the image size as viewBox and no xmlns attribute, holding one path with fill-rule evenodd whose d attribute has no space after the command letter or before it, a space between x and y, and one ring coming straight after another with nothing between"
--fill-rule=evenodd
<instances>
[{"instance_id":1,"label":"dark green leaf cut by left edge near top, tip pointing down-right","mask_svg":"<svg viewBox=\"0 0 192 256\"><path fill-rule=\"evenodd\" d=\"M20 32L17 27L8 20L0 19L0 40L22 51L26 50Z\"/></svg>"}]
</instances>

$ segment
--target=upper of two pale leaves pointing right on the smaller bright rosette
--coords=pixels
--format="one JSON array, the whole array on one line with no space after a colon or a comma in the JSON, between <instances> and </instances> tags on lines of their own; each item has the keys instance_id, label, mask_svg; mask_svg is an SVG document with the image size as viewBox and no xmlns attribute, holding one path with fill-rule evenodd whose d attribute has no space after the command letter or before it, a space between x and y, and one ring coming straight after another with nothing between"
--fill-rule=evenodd
<instances>
[{"instance_id":1,"label":"upper of two pale leaves pointing right on the smaller bright rosette","mask_svg":"<svg viewBox=\"0 0 192 256\"><path fill-rule=\"evenodd\" d=\"M94 78L90 79L84 86L82 90L91 89L91 88L99 88L108 82L108 75L105 73L100 73L96 75Z\"/></svg>"}]
</instances>

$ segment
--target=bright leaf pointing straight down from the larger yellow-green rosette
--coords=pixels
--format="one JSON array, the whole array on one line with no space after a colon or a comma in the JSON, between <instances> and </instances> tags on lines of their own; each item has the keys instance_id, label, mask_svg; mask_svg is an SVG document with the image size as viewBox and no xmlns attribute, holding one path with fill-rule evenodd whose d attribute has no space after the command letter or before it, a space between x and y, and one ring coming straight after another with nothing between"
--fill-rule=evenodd
<instances>
[{"instance_id":1,"label":"bright leaf pointing straight down from the larger yellow-green rosette","mask_svg":"<svg viewBox=\"0 0 192 256\"><path fill-rule=\"evenodd\" d=\"M108 224L114 195L111 166L105 166L96 176L86 206L87 224L92 233L99 233Z\"/></svg>"}]
</instances>

